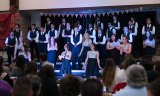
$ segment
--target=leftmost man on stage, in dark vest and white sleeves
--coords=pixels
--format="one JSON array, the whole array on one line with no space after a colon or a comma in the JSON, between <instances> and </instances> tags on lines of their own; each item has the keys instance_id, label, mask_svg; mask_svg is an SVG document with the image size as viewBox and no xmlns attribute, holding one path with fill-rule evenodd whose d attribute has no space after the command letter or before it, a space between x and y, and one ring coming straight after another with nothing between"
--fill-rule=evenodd
<instances>
[{"instance_id":1,"label":"leftmost man on stage, in dark vest and white sleeves","mask_svg":"<svg viewBox=\"0 0 160 96\"><path fill-rule=\"evenodd\" d=\"M14 32L11 32L9 37L6 38L6 51L8 56L8 63L12 63L12 57L14 58L15 45L17 44L17 38L14 36Z\"/></svg>"}]
</instances>

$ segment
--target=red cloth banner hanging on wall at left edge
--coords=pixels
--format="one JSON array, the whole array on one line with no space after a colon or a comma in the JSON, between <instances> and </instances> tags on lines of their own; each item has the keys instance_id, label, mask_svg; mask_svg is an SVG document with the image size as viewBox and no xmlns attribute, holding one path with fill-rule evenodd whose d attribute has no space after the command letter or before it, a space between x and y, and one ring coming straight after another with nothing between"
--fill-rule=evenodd
<instances>
[{"instance_id":1,"label":"red cloth banner hanging on wall at left edge","mask_svg":"<svg viewBox=\"0 0 160 96\"><path fill-rule=\"evenodd\" d=\"M0 49L5 47L5 39L10 32L10 13L0 14Z\"/></svg>"}]
</instances>

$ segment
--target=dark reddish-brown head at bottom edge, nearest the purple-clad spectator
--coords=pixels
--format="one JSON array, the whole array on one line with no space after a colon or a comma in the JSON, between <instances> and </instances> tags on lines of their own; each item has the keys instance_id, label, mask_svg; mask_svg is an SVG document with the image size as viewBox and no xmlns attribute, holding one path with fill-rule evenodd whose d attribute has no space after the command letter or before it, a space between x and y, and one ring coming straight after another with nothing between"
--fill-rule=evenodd
<instances>
[{"instance_id":1,"label":"dark reddish-brown head at bottom edge, nearest the purple-clad spectator","mask_svg":"<svg viewBox=\"0 0 160 96\"><path fill-rule=\"evenodd\" d=\"M32 84L26 77L19 77L13 85L13 96L28 96L32 91Z\"/></svg>"}]
</instances>

